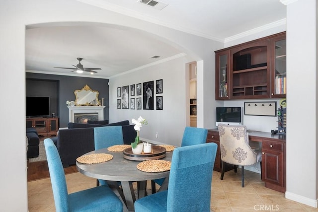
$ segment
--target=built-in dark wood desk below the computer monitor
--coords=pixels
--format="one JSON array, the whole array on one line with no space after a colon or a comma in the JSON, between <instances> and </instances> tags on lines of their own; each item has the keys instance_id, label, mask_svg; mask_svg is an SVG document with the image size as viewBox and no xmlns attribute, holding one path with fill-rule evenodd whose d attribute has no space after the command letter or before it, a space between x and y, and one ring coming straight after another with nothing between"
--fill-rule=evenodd
<instances>
[{"instance_id":1,"label":"built-in dark wood desk below the computer monitor","mask_svg":"<svg viewBox=\"0 0 318 212\"><path fill-rule=\"evenodd\" d=\"M286 191L286 135L272 135L267 132L248 132L249 141L262 143L262 180L265 187ZM214 170L221 172L220 136L218 129L208 130L207 142L218 144ZM232 169L227 166L226 170Z\"/></svg>"}]
</instances>

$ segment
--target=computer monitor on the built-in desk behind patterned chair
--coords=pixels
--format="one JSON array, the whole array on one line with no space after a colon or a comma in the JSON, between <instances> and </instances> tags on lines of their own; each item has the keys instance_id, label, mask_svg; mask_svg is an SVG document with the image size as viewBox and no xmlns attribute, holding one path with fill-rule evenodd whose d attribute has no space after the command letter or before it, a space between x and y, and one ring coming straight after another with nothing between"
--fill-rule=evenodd
<instances>
[{"instance_id":1,"label":"computer monitor on the built-in desk behind patterned chair","mask_svg":"<svg viewBox=\"0 0 318 212\"><path fill-rule=\"evenodd\" d=\"M242 125L242 110L240 107L217 107L216 126L218 124Z\"/></svg>"}]
</instances>

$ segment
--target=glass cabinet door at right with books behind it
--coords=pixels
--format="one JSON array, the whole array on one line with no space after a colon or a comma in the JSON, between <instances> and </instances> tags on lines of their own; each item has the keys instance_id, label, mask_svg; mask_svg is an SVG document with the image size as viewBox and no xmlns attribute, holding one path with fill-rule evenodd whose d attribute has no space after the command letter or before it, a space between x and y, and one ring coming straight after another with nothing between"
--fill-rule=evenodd
<instances>
[{"instance_id":1,"label":"glass cabinet door at right with books behind it","mask_svg":"<svg viewBox=\"0 0 318 212\"><path fill-rule=\"evenodd\" d=\"M275 59L272 67L272 98L286 98L286 35L273 40Z\"/></svg>"}]
</instances>

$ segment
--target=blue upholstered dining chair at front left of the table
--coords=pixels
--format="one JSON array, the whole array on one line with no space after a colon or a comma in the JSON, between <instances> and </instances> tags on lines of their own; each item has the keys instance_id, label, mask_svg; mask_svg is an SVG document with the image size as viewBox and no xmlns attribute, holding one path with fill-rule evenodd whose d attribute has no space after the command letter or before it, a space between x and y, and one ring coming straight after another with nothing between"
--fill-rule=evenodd
<instances>
[{"instance_id":1,"label":"blue upholstered dining chair at front left of the table","mask_svg":"<svg viewBox=\"0 0 318 212\"><path fill-rule=\"evenodd\" d=\"M123 204L107 186L98 186L68 194L59 152L51 139L44 140L57 212L122 212Z\"/></svg>"}]
</instances>

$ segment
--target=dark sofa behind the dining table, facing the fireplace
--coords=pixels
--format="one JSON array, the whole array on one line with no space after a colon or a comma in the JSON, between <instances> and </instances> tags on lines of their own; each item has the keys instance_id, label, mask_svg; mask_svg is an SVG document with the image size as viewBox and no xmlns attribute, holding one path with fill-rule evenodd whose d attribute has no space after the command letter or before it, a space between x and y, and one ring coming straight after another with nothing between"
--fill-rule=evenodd
<instances>
[{"instance_id":1,"label":"dark sofa behind the dining table, facing the fireplace","mask_svg":"<svg viewBox=\"0 0 318 212\"><path fill-rule=\"evenodd\" d=\"M58 137L55 139L63 167L76 164L76 158L95 150L94 127L104 126L122 126L124 144L135 141L137 135L135 125L129 125L128 120L107 125L69 123L68 127L71 129L59 130Z\"/></svg>"}]
</instances>

